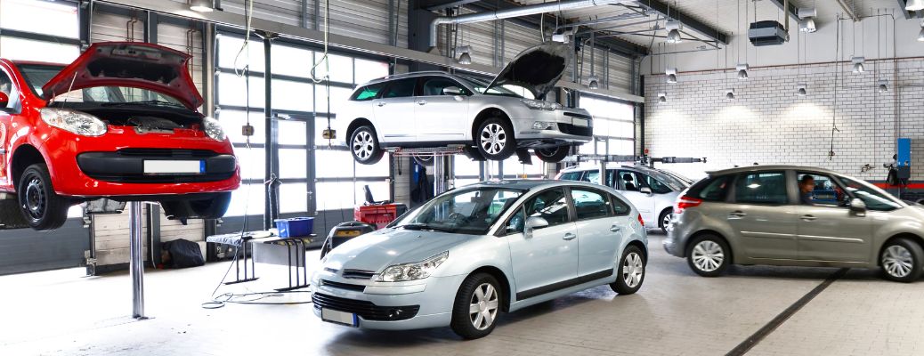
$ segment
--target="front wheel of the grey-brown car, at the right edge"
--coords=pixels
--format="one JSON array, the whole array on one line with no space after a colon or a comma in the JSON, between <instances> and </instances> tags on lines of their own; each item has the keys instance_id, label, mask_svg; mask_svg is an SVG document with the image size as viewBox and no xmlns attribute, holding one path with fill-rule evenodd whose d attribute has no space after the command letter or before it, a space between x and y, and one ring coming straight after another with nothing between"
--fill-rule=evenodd
<instances>
[{"instance_id":1,"label":"front wheel of the grey-brown car, at the right edge","mask_svg":"<svg viewBox=\"0 0 924 356\"><path fill-rule=\"evenodd\" d=\"M895 282L910 283L918 280L924 266L924 250L911 239L891 239L882 246L879 255L882 276Z\"/></svg>"}]
</instances>

